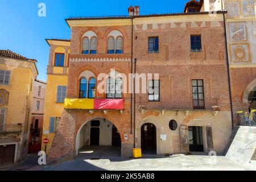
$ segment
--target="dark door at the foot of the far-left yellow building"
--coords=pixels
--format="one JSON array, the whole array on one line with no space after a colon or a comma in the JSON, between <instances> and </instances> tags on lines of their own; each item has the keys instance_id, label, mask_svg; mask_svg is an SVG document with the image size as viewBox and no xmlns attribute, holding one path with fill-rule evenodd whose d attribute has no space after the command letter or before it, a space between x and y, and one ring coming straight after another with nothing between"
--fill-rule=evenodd
<instances>
[{"instance_id":1,"label":"dark door at the foot of the far-left yellow building","mask_svg":"<svg viewBox=\"0 0 256 182\"><path fill-rule=\"evenodd\" d=\"M0 165L13 164L15 156L15 144L0 146Z\"/></svg>"}]
</instances>

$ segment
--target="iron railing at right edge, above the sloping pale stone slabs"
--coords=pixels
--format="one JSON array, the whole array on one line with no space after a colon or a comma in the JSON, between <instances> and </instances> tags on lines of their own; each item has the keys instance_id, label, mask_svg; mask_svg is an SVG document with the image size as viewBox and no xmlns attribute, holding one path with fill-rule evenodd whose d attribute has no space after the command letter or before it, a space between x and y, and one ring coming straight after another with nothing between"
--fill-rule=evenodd
<instances>
[{"instance_id":1,"label":"iron railing at right edge, above the sloping pale stone slabs","mask_svg":"<svg viewBox=\"0 0 256 182\"><path fill-rule=\"evenodd\" d=\"M256 126L256 112L250 114L242 111L238 112L237 122L240 126Z\"/></svg>"}]
</instances>

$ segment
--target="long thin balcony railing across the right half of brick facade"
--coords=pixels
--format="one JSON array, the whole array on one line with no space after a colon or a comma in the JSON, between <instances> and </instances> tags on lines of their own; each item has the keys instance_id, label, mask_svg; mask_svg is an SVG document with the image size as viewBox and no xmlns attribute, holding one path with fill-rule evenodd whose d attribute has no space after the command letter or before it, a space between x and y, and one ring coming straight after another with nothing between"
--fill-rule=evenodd
<instances>
[{"instance_id":1,"label":"long thin balcony railing across the right half of brick facade","mask_svg":"<svg viewBox=\"0 0 256 182\"><path fill-rule=\"evenodd\" d=\"M148 101L148 96L139 97L140 109L170 110L219 110L218 98L193 101L191 97L161 96L160 101Z\"/></svg>"}]
</instances>

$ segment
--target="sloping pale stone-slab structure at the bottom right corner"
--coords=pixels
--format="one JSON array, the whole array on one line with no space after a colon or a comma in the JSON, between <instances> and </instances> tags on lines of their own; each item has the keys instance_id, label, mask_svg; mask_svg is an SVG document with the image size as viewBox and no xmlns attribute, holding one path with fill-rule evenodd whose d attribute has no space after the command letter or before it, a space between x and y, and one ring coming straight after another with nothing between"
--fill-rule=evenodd
<instances>
[{"instance_id":1,"label":"sloping pale stone-slab structure at the bottom right corner","mask_svg":"<svg viewBox=\"0 0 256 182\"><path fill-rule=\"evenodd\" d=\"M256 170L256 127L236 126L225 153L229 160Z\"/></svg>"}]
</instances>

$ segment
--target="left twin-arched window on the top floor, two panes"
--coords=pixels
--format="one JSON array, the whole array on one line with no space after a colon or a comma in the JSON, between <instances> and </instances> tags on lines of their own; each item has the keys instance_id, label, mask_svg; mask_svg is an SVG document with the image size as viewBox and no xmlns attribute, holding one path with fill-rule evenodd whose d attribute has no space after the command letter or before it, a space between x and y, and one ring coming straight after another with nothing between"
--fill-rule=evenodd
<instances>
[{"instance_id":1,"label":"left twin-arched window on the top floor, two panes","mask_svg":"<svg viewBox=\"0 0 256 182\"><path fill-rule=\"evenodd\" d=\"M97 54L98 39L96 36L92 38L84 37L82 39L82 53L84 55Z\"/></svg>"}]
</instances>

